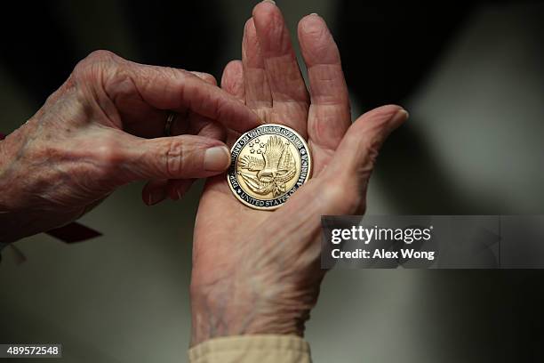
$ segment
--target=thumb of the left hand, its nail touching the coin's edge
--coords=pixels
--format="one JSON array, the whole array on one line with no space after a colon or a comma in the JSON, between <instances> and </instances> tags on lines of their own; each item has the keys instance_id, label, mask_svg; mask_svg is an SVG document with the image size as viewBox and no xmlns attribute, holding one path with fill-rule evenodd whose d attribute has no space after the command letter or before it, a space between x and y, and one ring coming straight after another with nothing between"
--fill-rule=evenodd
<instances>
[{"instance_id":1,"label":"thumb of the left hand, its nail touching the coin's edge","mask_svg":"<svg viewBox=\"0 0 544 363\"><path fill-rule=\"evenodd\" d=\"M124 164L134 181L205 178L227 170L230 152L223 142L203 136L138 139Z\"/></svg>"}]
</instances>

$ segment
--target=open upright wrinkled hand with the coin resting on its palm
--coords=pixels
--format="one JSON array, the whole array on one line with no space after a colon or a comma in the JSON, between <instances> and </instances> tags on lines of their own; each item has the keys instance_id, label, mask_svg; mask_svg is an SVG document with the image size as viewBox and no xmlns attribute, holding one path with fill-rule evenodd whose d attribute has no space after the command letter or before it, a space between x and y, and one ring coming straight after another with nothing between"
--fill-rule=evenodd
<instances>
[{"instance_id":1,"label":"open upright wrinkled hand with the coin resting on its palm","mask_svg":"<svg viewBox=\"0 0 544 363\"><path fill-rule=\"evenodd\" d=\"M340 54L324 20L308 15L298 33L309 97L282 14L268 2L254 8L242 61L228 64L221 83L266 122L308 138L313 177L273 212L238 202L224 175L207 182L194 235L192 344L220 335L302 335L324 277L320 216L364 213L380 145L407 117L384 106L351 125Z\"/></svg>"}]
</instances>

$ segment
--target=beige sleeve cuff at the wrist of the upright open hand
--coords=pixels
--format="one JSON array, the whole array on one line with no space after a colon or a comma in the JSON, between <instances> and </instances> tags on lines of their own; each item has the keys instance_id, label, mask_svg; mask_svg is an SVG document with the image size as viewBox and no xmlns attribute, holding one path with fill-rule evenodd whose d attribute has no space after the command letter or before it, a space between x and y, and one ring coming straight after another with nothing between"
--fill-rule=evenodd
<instances>
[{"instance_id":1,"label":"beige sleeve cuff at the wrist of the upright open hand","mask_svg":"<svg viewBox=\"0 0 544 363\"><path fill-rule=\"evenodd\" d=\"M211 339L188 351L191 363L310 363L308 343L296 335L238 335Z\"/></svg>"}]
</instances>

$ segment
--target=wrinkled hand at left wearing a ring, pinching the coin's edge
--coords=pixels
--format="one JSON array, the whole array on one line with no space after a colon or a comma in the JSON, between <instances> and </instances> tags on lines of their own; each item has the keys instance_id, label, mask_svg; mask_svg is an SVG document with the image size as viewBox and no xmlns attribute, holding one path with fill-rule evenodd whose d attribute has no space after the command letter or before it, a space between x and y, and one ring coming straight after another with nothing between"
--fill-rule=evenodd
<instances>
[{"instance_id":1,"label":"wrinkled hand at left wearing a ring, pinching the coin's edge","mask_svg":"<svg viewBox=\"0 0 544 363\"><path fill-rule=\"evenodd\" d=\"M152 181L143 190L151 205L167 190L179 198L180 180L222 173L225 127L243 131L260 121L214 82L92 52L0 142L0 242L71 222L131 181ZM179 136L160 137L171 110L180 114L172 125Z\"/></svg>"}]
</instances>

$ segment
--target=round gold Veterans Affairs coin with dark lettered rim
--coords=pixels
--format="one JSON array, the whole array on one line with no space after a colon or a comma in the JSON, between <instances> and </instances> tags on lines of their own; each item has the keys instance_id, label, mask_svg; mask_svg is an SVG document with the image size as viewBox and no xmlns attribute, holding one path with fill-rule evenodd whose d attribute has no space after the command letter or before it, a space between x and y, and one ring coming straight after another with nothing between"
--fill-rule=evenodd
<instances>
[{"instance_id":1,"label":"round gold Veterans Affairs coin with dark lettered rim","mask_svg":"<svg viewBox=\"0 0 544 363\"><path fill-rule=\"evenodd\" d=\"M284 125L260 125L242 134L230 158L228 186L238 200L255 209L282 206L311 173L308 144Z\"/></svg>"}]
</instances>

